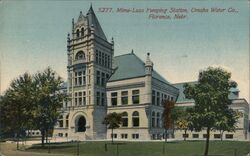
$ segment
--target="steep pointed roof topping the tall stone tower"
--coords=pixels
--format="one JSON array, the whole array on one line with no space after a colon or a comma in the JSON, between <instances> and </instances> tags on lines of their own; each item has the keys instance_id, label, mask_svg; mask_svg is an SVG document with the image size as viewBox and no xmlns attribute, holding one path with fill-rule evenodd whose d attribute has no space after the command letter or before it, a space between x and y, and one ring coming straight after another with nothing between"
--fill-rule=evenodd
<instances>
[{"instance_id":1,"label":"steep pointed roof topping the tall stone tower","mask_svg":"<svg viewBox=\"0 0 250 156\"><path fill-rule=\"evenodd\" d=\"M88 11L86 16L87 16L87 19L88 19L89 26L94 27L95 34L97 36L101 37L102 39L107 40L107 38L106 38L106 36L105 36L105 34L104 34L103 30L102 30L102 27L101 27L96 15L95 15L95 12L93 10L92 5L90 6L89 11Z\"/></svg>"}]
</instances>

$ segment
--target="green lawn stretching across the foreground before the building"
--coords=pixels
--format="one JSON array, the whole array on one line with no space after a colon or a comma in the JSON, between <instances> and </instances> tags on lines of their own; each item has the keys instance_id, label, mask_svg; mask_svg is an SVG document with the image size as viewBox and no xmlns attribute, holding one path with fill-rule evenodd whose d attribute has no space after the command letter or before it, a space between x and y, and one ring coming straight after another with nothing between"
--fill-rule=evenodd
<instances>
[{"instance_id":1,"label":"green lawn stretching across the foreground before the building","mask_svg":"<svg viewBox=\"0 0 250 156\"><path fill-rule=\"evenodd\" d=\"M116 156L117 144L107 143L107 151L105 144L107 142L81 142L79 151L81 156ZM119 142L119 156L163 156L162 142ZM165 156L201 156L203 154L203 141L179 141L165 144ZM62 143L51 144L51 153L76 155L77 143ZM210 155L217 156L246 156L250 153L250 142L239 141L211 141ZM28 151L48 152L48 147L41 148L40 145L35 145Z\"/></svg>"}]
</instances>

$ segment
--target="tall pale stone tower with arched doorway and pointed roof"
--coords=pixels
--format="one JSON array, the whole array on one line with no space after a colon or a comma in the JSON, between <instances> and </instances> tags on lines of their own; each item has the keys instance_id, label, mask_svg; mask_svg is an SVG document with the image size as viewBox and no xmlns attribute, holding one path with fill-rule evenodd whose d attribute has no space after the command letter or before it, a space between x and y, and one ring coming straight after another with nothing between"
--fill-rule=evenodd
<instances>
[{"instance_id":1,"label":"tall pale stone tower with arched doorway and pointed roof","mask_svg":"<svg viewBox=\"0 0 250 156\"><path fill-rule=\"evenodd\" d=\"M67 38L69 102L63 108L68 134L80 139L106 137L106 82L112 72L113 40L107 38L92 6L82 12ZM68 120L68 121L67 121Z\"/></svg>"}]
</instances>

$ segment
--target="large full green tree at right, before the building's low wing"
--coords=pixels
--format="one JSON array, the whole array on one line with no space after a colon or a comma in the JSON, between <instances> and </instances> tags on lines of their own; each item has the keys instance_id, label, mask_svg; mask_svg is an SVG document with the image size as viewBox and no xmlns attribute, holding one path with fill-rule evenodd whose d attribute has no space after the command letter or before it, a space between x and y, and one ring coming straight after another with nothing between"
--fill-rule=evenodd
<instances>
[{"instance_id":1,"label":"large full green tree at right, before the building's low wing","mask_svg":"<svg viewBox=\"0 0 250 156\"><path fill-rule=\"evenodd\" d=\"M206 129L206 144L204 156L208 155L210 131L217 128L217 123L223 116L235 120L228 107L231 100L228 98L229 89L236 87L231 74L221 68L208 67L199 73L198 83L184 85L186 98L193 99L195 106L191 110L190 119L193 128L197 131Z\"/></svg>"}]
</instances>

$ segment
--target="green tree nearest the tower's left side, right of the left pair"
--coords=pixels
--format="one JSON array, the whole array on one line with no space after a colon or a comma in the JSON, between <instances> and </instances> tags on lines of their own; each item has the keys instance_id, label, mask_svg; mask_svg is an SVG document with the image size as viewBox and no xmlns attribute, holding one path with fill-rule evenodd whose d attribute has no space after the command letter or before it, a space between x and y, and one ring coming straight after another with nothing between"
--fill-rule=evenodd
<instances>
[{"instance_id":1,"label":"green tree nearest the tower's left side, right of the left pair","mask_svg":"<svg viewBox=\"0 0 250 156\"><path fill-rule=\"evenodd\" d=\"M60 86L63 83L62 78L58 76L51 68L38 72L35 77L36 84L36 125L41 131L42 146L48 134L53 130L61 108L62 101L66 98L63 92L60 92Z\"/></svg>"}]
</instances>

